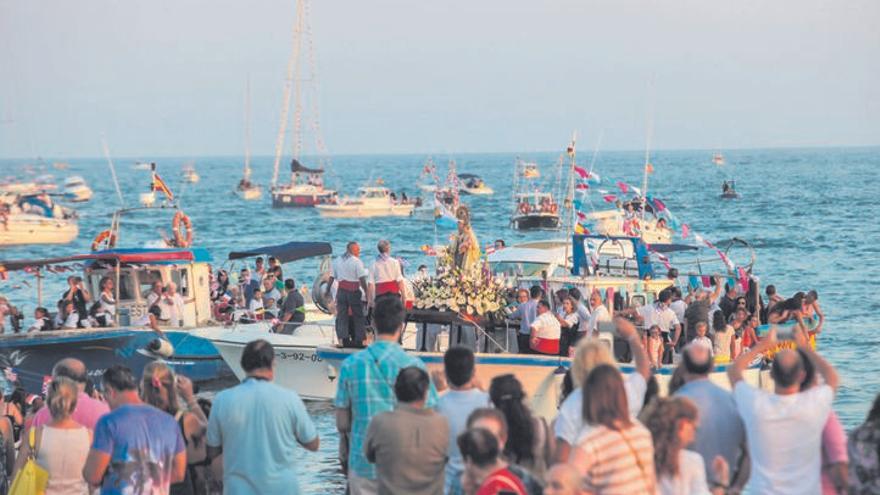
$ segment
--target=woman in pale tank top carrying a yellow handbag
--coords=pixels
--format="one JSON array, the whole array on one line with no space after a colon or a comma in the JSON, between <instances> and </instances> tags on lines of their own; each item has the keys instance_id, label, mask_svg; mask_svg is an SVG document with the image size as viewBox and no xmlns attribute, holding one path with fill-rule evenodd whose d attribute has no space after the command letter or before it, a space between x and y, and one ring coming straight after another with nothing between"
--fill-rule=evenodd
<instances>
[{"instance_id":1,"label":"woman in pale tank top carrying a yellow handbag","mask_svg":"<svg viewBox=\"0 0 880 495\"><path fill-rule=\"evenodd\" d=\"M46 398L52 421L36 427L33 450L30 442L22 442L15 463L17 474L33 456L37 465L49 473L46 495L89 493L82 471L89 455L92 433L70 417L76 409L78 394L77 384L70 378L55 377L52 380Z\"/></svg>"}]
</instances>

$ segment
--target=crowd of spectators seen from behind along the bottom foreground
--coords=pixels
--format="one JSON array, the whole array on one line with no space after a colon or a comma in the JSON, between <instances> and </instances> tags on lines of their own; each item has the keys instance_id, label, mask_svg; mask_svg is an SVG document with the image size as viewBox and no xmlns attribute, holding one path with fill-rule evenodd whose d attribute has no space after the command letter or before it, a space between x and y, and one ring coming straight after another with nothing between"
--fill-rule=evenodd
<instances>
[{"instance_id":1,"label":"crowd of spectators seen from behind along the bottom foreground","mask_svg":"<svg viewBox=\"0 0 880 495\"><path fill-rule=\"evenodd\" d=\"M540 306L539 306L540 307ZM696 339L659 397L632 321L610 323L632 355L623 373L609 347L573 345L555 418L539 417L514 375L481 383L471 349L454 346L442 369L399 344L400 298L373 304L374 341L348 357L333 401L347 490L357 494L878 493L880 396L847 438L832 410L834 368L793 333L770 362L772 391L745 370L778 342L772 329L727 366L732 391L709 379L716 356ZM542 313L546 314L546 313ZM47 494L299 493L300 447L320 446L295 391L273 383L265 340L241 356L247 377L213 404L166 364L141 377L114 366L92 387L82 362L52 371L45 401L23 417L21 448L0 421L0 487L28 459L48 473ZM93 389L92 389L93 388Z\"/></svg>"}]
</instances>

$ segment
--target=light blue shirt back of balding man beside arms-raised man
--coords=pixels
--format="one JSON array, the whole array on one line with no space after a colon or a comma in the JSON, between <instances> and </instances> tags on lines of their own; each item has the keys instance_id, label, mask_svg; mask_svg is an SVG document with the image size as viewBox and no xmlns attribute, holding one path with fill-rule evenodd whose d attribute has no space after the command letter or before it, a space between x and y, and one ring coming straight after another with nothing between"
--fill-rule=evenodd
<instances>
[{"instance_id":1,"label":"light blue shirt back of balding man beside arms-raised man","mask_svg":"<svg viewBox=\"0 0 880 495\"><path fill-rule=\"evenodd\" d=\"M709 379L688 382L675 395L687 397L700 411L696 438L688 449L702 456L707 479L718 481L711 465L719 455L727 461L731 475L735 474L745 454L746 434L733 395Z\"/></svg>"}]
</instances>

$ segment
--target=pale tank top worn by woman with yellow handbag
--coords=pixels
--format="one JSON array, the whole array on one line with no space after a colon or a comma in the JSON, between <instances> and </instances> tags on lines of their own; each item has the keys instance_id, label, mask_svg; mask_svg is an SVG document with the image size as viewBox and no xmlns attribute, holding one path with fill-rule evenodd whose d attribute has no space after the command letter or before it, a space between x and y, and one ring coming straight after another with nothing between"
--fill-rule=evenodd
<instances>
[{"instance_id":1,"label":"pale tank top worn by woman with yellow handbag","mask_svg":"<svg viewBox=\"0 0 880 495\"><path fill-rule=\"evenodd\" d=\"M89 455L89 430L43 426L37 445L37 464L49 472L46 493L52 495L82 495L89 486L82 470Z\"/></svg>"}]
</instances>

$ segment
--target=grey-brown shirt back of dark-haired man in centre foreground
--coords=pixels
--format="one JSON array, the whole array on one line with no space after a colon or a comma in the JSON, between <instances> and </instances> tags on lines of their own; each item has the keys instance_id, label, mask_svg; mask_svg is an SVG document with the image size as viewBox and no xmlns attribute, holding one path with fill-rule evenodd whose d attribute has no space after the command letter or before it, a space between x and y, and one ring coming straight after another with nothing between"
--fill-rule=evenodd
<instances>
[{"instance_id":1,"label":"grey-brown shirt back of dark-haired man in centre foreground","mask_svg":"<svg viewBox=\"0 0 880 495\"><path fill-rule=\"evenodd\" d=\"M440 414L401 404L373 418L367 457L376 462L380 494L443 493L449 424Z\"/></svg>"}]
</instances>

